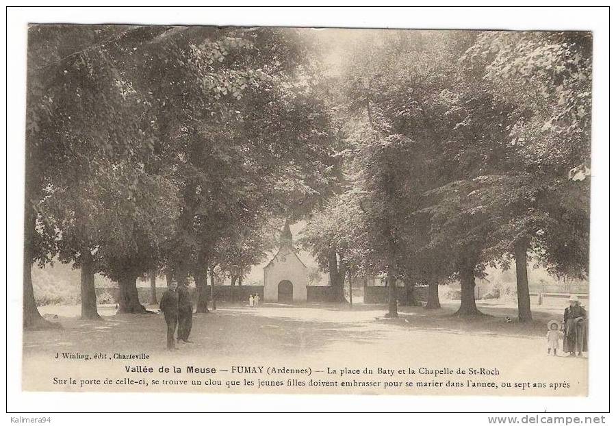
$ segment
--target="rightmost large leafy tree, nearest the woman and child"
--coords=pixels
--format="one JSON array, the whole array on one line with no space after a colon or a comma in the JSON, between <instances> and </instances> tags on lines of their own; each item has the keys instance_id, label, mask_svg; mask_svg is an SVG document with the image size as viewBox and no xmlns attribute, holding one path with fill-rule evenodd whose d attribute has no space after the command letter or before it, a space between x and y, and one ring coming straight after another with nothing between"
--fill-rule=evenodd
<instances>
[{"instance_id":1,"label":"rightmost large leafy tree, nearest the woman and child","mask_svg":"<svg viewBox=\"0 0 616 426\"><path fill-rule=\"evenodd\" d=\"M513 256L519 320L530 321L529 253L554 273L587 273L592 36L485 32L461 64L515 105L508 162L494 179L503 220L492 248Z\"/></svg>"}]
</instances>

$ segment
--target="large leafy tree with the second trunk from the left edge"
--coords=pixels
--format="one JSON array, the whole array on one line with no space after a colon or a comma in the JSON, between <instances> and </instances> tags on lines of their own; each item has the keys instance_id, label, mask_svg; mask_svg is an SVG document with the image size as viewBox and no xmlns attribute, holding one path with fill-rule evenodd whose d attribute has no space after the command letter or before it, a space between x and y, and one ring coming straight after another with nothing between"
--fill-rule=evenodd
<instances>
[{"instance_id":1,"label":"large leafy tree with the second trunk from the left edge","mask_svg":"<svg viewBox=\"0 0 616 426\"><path fill-rule=\"evenodd\" d=\"M148 197L168 198L161 190L171 187L162 175L144 179L152 175L149 108L144 93L134 88L127 60L143 40L161 31L62 25L31 29L29 95L33 101L27 150L40 158L29 158L28 166L36 166L39 174L27 192L33 191L34 202L41 204L39 220L53 221L60 259L81 268L85 318L98 317L94 273L108 270L112 263L101 258L101 253L108 253L103 246L118 242L112 228L105 226L124 214L119 209L125 206L116 199L132 202L127 208L152 210L155 202ZM75 40L81 38L90 42L84 49L75 47ZM60 58L53 58L56 55ZM132 231L123 232L123 237ZM133 243L139 242L127 240L125 247ZM136 293L136 288L129 292Z\"/></svg>"}]
</instances>

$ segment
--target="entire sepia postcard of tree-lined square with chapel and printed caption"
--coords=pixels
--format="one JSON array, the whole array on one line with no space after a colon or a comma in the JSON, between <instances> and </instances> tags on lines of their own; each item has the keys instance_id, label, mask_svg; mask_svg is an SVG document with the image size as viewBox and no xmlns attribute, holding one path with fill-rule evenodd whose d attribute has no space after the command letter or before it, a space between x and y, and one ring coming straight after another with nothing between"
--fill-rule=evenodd
<instances>
[{"instance_id":1,"label":"entire sepia postcard of tree-lined square with chapel and printed caption","mask_svg":"<svg viewBox=\"0 0 616 426\"><path fill-rule=\"evenodd\" d=\"M591 29L88 22L27 26L23 391L589 396Z\"/></svg>"}]
</instances>

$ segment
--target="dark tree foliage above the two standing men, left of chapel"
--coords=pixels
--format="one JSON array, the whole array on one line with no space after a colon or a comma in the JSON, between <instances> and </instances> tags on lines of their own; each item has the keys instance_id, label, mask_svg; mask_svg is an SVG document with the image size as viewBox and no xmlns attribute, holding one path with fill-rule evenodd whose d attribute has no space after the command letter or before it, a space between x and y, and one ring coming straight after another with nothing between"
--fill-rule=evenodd
<instances>
[{"instance_id":1,"label":"dark tree foliage above the two standing men, left of chapel","mask_svg":"<svg viewBox=\"0 0 616 426\"><path fill-rule=\"evenodd\" d=\"M266 212L290 216L321 197L331 179L328 114L309 90L295 30L174 28L148 57L156 137L183 153L165 252L184 281L227 262L221 243L244 245L243 224L256 229Z\"/></svg>"}]
</instances>

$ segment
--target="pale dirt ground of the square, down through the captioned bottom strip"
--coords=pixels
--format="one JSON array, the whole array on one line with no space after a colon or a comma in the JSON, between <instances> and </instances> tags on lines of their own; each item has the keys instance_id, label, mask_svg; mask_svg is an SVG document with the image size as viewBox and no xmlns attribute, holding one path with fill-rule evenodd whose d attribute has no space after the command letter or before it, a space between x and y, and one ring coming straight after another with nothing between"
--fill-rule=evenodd
<instances>
[{"instance_id":1,"label":"pale dirt ground of the square, down through the captioned bottom strip","mask_svg":"<svg viewBox=\"0 0 616 426\"><path fill-rule=\"evenodd\" d=\"M79 307L49 306L41 308L41 313L57 315L53 321L59 321L63 328L25 332L23 388L521 396L587 394L587 355L571 358L563 353L556 357L547 354L546 323L550 319L560 319L560 309L535 309L533 323L519 324L515 321L515 306L511 304L478 302L480 310L488 315L471 320L451 316L457 305L455 302L443 303L441 310L400 307L400 318L393 320L383 317L386 312L384 305L356 304L352 310L346 305L324 304L266 303L259 308L222 305L212 313L195 314L190 337L193 343L181 344L179 350L173 352L165 349L166 328L162 315L115 315L114 306L104 306L99 308L103 321L81 321L77 318ZM155 306L148 308L156 309ZM514 321L507 323L505 316ZM101 353L107 358L63 360L62 353L89 355L90 358ZM144 353L149 358L114 360L114 353ZM126 366L152 366L155 371L150 374L127 373ZM160 366L179 366L182 372L158 373ZM216 368L218 373L196 377L186 373L186 366ZM264 366L264 372L238 373L233 366ZM310 373L266 374L268 367L305 368ZM365 371L365 368L372 371ZM379 373L378 368L383 372ZM444 368L450 368L450 371L444 371ZM472 374L471 370L480 372L481 368L496 374ZM457 373L458 369L464 373ZM142 380L142 383L101 388L88 383L82 386L71 384L70 380L63 383L67 377L77 382L88 377L93 380L133 378ZM189 381L214 378L220 383L216 380L201 386L155 386L151 383L151 379L169 377ZM255 385L246 385L244 379L255 381ZM283 384L270 384L274 379ZM301 386L290 379L302 380L306 384ZM311 379L318 383L311 386ZM264 386L257 386L259 380L265 381ZM341 385L346 380L378 381L378 386L348 388ZM227 381L231 383L227 384ZM235 381L241 383L235 384ZM325 384L326 381L337 383L329 385ZM145 382L149 385L145 386ZM389 386L385 387L386 383Z\"/></svg>"}]
</instances>

